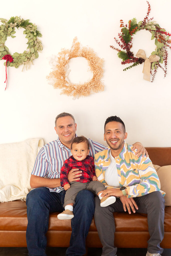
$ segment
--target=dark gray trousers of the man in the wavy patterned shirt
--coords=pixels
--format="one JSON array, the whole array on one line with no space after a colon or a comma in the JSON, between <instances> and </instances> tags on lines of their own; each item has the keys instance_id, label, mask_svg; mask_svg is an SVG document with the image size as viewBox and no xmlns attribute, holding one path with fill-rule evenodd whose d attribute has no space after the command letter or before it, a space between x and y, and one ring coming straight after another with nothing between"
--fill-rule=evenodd
<instances>
[{"instance_id":1,"label":"dark gray trousers of the man in the wavy patterned shirt","mask_svg":"<svg viewBox=\"0 0 171 256\"><path fill-rule=\"evenodd\" d=\"M148 240L149 253L162 253L160 242L164 237L164 208L165 200L160 191L154 191L145 196L134 197L138 206L136 212L147 214L148 232L150 239ZM106 207L100 207L100 200L95 198L95 224L98 231L100 241L103 245L103 256L116 255L117 248L114 246L115 220L113 212L124 212L123 204L119 198L116 202ZM132 212L132 210L131 210ZM134 214L134 213L131 213ZM131 238L130 238L131 239Z\"/></svg>"}]
</instances>

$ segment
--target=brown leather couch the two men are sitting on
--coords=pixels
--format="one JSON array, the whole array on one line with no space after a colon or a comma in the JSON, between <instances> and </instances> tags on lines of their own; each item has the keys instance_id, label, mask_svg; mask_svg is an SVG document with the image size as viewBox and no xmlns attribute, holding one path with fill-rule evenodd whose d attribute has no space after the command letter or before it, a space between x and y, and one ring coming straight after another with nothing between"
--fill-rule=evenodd
<instances>
[{"instance_id":1,"label":"brown leather couch the two men are sitting on","mask_svg":"<svg viewBox=\"0 0 171 256\"><path fill-rule=\"evenodd\" d=\"M147 148L153 164L171 165L171 147ZM164 189L163 189L164 190ZM47 246L68 247L71 236L71 220L58 220L58 213L51 213L47 232ZM147 248L149 239L147 215L115 212L115 245L120 248ZM26 203L21 200L0 203L0 247L26 247ZM171 248L171 206L165 207L165 235L163 248ZM94 219L86 239L87 247L102 247Z\"/></svg>"}]
</instances>

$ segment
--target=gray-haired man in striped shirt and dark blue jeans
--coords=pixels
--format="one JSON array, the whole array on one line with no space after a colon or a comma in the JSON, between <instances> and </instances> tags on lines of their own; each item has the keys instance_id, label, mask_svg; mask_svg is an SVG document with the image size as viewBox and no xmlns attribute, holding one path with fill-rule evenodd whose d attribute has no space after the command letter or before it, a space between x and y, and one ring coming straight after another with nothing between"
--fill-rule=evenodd
<instances>
[{"instance_id":1,"label":"gray-haired man in striped shirt and dark blue jeans","mask_svg":"<svg viewBox=\"0 0 171 256\"><path fill-rule=\"evenodd\" d=\"M60 184L60 170L64 161L71 156L71 143L76 134L76 123L73 115L61 113L55 119L55 131L58 138L43 146L37 155L30 185L35 188L29 192L27 204L26 240L28 255L46 255L46 232L48 230L49 212L63 211L65 190ZM104 150L105 146L89 139L90 152ZM145 154L142 144L136 143L138 154ZM69 182L79 180L81 171L78 168L68 173ZM80 191L74 204L74 218L71 221L72 231L68 256L83 255L86 252L85 238L94 214L94 195L88 190ZM80 218L81 216L81 218Z\"/></svg>"}]
</instances>

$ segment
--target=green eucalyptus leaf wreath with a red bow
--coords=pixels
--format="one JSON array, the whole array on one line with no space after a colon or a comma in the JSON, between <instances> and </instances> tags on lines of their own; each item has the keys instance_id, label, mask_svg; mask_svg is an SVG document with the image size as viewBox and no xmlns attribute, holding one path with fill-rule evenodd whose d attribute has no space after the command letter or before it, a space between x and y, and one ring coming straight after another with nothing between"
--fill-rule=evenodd
<instances>
[{"instance_id":1,"label":"green eucalyptus leaf wreath with a red bow","mask_svg":"<svg viewBox=\"0 0 171 256\"><path fill-rule=\"evenodd\" d=\"M26 34L26 38L28 39L27 49L23 53L15 52L13 55L13 61L4 62L4 66L7 67L15 67L18 68L20 65L24 65L24 67L29 68L30 64L33 64L33 60L38 58L38 52L43 49L41 41L37 37L42 37L40 31L37 30L37 26L33 23L29 22L29 19L24 20L20 18L20 16L11 17L9 20L0 18L0 21L3 23L0 26L0 60L5 55L11 55L8 47L5 45L5 41L8 36L14 38L15 28L22 27L25 30L23 34Z\"/></svg>"}]
</instances>

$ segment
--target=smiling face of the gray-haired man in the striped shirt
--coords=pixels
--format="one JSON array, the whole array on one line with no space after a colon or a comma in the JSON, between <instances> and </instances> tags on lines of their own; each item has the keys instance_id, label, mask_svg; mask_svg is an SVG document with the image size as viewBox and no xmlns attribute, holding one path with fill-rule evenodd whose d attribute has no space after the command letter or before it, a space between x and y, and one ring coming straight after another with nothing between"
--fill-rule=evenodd
<instances>
[{"instance_id":1,"label":"smiling face of the gray-haired man in the striped shirt","mask_svg":"<svg viewBox=\"0 0 171 256\"><path fill-rule=\"evenodd\" d=\"M74 124L74 120L71 116L59 117L56 120L55 131L59 136L59 140L63 145L70 148L70 144L75 138L77 124Z\"/></svg>"}]
</instances>

